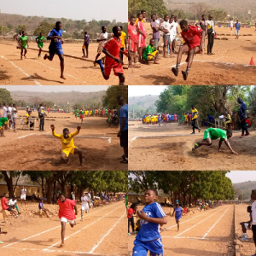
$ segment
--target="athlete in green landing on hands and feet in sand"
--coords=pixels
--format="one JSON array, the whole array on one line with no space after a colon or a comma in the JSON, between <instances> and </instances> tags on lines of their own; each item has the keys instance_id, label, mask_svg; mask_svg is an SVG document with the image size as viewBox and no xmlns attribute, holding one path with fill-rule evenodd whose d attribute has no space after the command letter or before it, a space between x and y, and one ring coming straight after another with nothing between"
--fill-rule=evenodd
<instances>
[{"instance_id":1,"label":"athlete in green landing on hands and feet in sand","mask_svg":"<svg viewBox=\"0 0 256 256\"><path fill-rule=\"evenodd\" d=\"M196 148L199 148L203 145L205 146L211 146L212 145L212 140L217 140L218 138L220 138L219 143L218 143L218 151L220 152L220 147L222 145L222 142L224 141L224 143L226 144L226 146L228 148L230 148L230 151L233 154L237 154L230 146L230 143L228 141L228 139L232 137L232 131L228 130L228 131L224 131L221 130L219 128L208 128L205 132L204 132L204 137L203 140L201 142L195 143L195 147L192 148L192 151L195 151Z\"/></svg>"}]
</instances>

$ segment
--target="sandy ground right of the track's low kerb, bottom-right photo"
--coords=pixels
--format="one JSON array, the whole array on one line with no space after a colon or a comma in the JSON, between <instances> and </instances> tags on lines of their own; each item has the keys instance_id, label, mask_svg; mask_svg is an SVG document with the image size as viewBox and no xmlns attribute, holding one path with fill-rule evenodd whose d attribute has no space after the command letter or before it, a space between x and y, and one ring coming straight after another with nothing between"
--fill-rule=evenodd
<instances>
[{"instance_id":1,"label":"sandy ground right of the track's low kerb, bottom-right photo","mask_svg":"<svg viewBox=\"0 0 256 256\"><path fill-rule=\"evenodd\" d=\"M249 213L247 213L247 206L246 204L243 205L236 205L235 207L235 214L236 214L236 233L238 236L242 236L241 230L241 222L247 222L250 220ZM252 230L247 230L247 235L249 241L241 241L240 253L241 256L253 255L255 253L255 245L253 241L253 232Z\"/></svg>"}]
</instances>

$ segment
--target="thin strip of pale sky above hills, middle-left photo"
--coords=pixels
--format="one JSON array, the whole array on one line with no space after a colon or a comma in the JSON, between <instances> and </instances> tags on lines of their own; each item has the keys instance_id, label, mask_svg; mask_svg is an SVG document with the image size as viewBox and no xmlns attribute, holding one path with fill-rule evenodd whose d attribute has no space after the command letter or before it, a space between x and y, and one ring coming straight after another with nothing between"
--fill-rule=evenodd
<instances>
[{"instance_id":1,"label":"thin strip of pale sky above hills, middle-left photo","mask_svg":"<svg viewBox=\"0 0 256 256\"><path fill-rule=\"evenodd\" d=\"M90 91L100 91L100 90L107 90L109 85L1 85L0 88L5 88L9 91L11 90L27 90L27 91L43 91L43 92L64 92L64 91L81 91L81 92L90 92Z\"/></svg>"}]
</instances>

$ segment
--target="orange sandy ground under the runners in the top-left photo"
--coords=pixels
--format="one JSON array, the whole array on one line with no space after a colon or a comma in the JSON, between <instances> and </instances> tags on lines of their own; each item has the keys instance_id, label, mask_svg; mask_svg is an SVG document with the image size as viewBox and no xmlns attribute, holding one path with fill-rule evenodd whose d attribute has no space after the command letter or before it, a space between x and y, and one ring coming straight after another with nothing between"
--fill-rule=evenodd
<instances>
[{"instance_id":1,"label":"orange sandy ground under the runners in the top-left photo","mask_svg":"<svg viewBox=\"0 0 256 256\"><path fill-rule=\"evenodd\" d=\"M4 43L4 44L3 44ZM66 80L60 79L60 61L59 57L55 55L53 61L44 61L44 54L42 52L41 58L38 59L38 46L36 43L31 42L29 45L33 49L28 49L26 60L20 61L20 50L16 49L16 43L13 41L0 41L1 55L0 55L0 84L2 85L113 85L119 84L119 78L110 75L110 79L105 80L102 77L99 65L94 67L93 62L96 56L97 44L90 44L89 58L84 61L74 59L71 57L65 58L64 74ZM48 51L49 43L44 44L44 50ZM64 54L81 57L82 45L81 44L63 44ZM12 61L15 66L6 61L4 58ZM102 54L103 56L103 54ZM127 62L127 58L124 59ZM125 62L125 63L126 63ZM125 65L127 67L127 65ZM23 72L20 71L23 70ZM26 76L26 74L29 75ZM127 69L125 69L125 77L127 81Z\"/></svg>"}]
</instances>

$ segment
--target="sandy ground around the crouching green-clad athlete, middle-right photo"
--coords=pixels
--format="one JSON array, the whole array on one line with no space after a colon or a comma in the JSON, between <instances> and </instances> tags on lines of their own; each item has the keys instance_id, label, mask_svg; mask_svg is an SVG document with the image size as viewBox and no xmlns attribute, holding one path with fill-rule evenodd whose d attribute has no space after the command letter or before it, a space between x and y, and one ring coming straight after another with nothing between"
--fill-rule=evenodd
<instances>
[{"instance_id":1,"label":"sandy ground around the crouching green-clad athlete, middle-right photo","mask_svg":"<svg viewBox=\"0 0 256 256\"><path fill-rule=\"evenodd\" d=\"M233 132L233 137L229 141L238 155L231 154L224 143L221 147L222 152L218 152L218 140L212 141L212 146L201 146L192 153L195 142L202 140L205 127L200 133L195 131L195 135L190 135L191 126L186 127L177 123L160 127L142 125L141 122L129 124L129 170L255 170L255 131L250 131L251 135L245 138L240 138L241 131ZM134 137L137 139L132 141ZM157 164L149 164L151 160L157 160Z\"/></svg>"}]
</instances>

